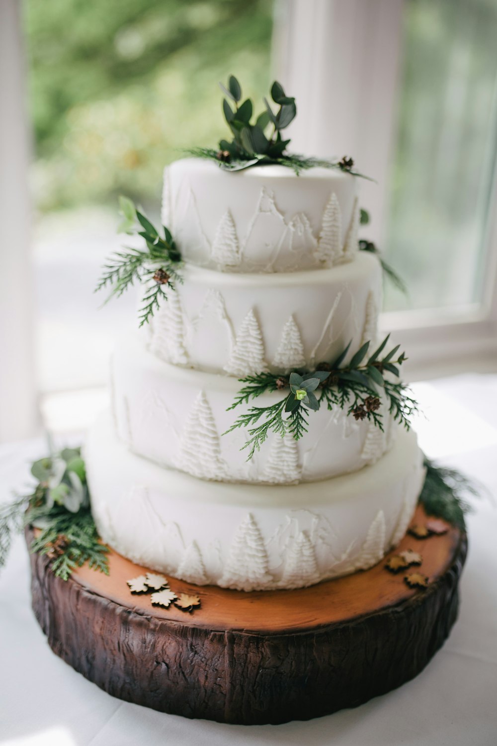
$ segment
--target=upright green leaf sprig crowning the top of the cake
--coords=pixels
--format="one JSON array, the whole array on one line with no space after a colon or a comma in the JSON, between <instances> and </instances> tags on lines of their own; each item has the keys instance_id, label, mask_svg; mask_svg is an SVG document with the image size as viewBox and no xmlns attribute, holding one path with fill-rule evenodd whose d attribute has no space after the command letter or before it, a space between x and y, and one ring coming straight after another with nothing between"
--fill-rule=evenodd
<instances>
[{"instance_id":1,"label":"upright green leaf sprig crowning the top of the cake","mask_svg":"<svg viewBox=\"0 0 497 746\"><path fill-rule=\"evenodd\" d=\"M265 109L257 116L254 115L253 102L250 98L245 98L240 103L241 86L234 75L229 75L227 86L222 83L219 85L225 95L223 113L232 139L220 140L216 149L190 148L187 151L190 155L215 160L225 171L243 171L253 166L276 164L294 169L298 175L301 171L321 166L370 179L355 171L354 161L349 156L327 160L288 152L287 148L291 141L285 140L282 132L295 119L297 104L293 96L286 95L282 84L274 81L270 90L273 104L265 98Z\"/></svg>"}]
</instances>

